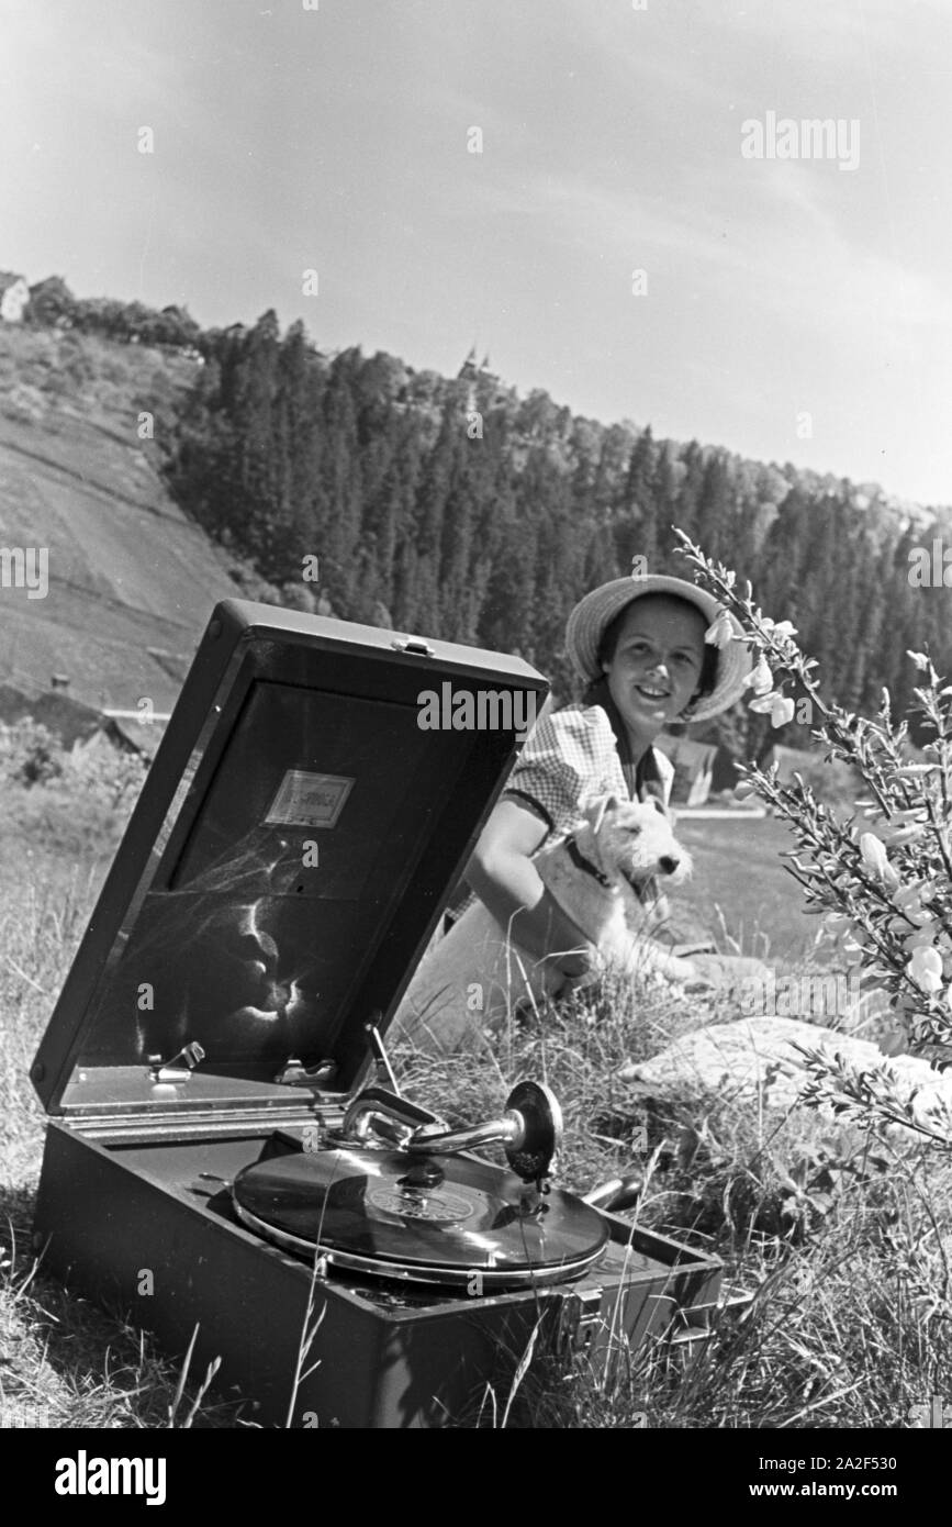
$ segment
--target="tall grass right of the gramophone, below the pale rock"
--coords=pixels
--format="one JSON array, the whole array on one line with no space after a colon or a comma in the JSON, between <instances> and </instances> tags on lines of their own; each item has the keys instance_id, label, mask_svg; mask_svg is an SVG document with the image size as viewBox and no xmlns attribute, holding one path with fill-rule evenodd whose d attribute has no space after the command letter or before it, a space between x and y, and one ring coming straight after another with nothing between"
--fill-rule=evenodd
<instances>
[{"instance_id":1,"label":"tall grass right of the gramophone, below the pale rock","mask_svg":"<svg viewBox=\"0 0 952 1527\"><path fill-rule=\"evenodd\" d=\"M545 1029L503 1035L496 1073L398 1052L407 1090L450 1122L497 1109L508 1075L545 1077L568 1104L566 1186L630 1171L647 1127L638 1222L716 1252L754 1295L687 1371L664 1344L648 1345L607 1385L578 1374L557 1408L540 1397L536 1423L908 1425L909 1406L952 1387L952 1161L873 1145L806 1110L758 1113L729 1093L633 1102L612 1072L658 1048L645 997L603 993L598 1012L578 1005L546 1014ZM671 1038L693 1023L661 994L650 1017Z\"/></svg>"}]
</instances>

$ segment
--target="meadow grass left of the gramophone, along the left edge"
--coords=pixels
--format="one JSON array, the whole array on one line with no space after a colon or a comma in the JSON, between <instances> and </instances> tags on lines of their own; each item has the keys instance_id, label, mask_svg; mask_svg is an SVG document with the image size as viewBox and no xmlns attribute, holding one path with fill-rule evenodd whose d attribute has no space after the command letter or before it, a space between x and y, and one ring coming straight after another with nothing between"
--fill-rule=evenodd
<instances>
[{"instance_id":1,"label":"meadow grass left of the gramophone, along the left edge","mask_svg":"<svg viewBox=\"0 0 952 1527\"><path fill-rule=\"evenodd\" d=\"M178 1367L46 1280L32 1246L44 1113L27 1072L119 841L113 776L0 796L0 1428L165 1426L178 1393ZM233 1414L206 1402L201 1420Z\"/></svg>"}]
</instances>

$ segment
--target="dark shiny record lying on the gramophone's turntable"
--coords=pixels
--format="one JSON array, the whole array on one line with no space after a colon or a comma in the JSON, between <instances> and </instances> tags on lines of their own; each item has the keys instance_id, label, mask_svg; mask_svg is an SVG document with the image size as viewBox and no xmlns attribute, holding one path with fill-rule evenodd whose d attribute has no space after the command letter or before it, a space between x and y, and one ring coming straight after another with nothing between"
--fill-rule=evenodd
<instances>
[{"instance_id":1,"label":"dark shiny record lying on the gramophone's turntable","mask_svg":"<svg viewBox=\"0 0 952 1527\"><path fill-rule=\"evenodd\" d=\"M342 1147L238 1173L238 1217L288 1251L388 1278L491 1287L584 1270L609 1229L597 1209L531 1190L488 1162Z\"/></svg>"}]
</instances>

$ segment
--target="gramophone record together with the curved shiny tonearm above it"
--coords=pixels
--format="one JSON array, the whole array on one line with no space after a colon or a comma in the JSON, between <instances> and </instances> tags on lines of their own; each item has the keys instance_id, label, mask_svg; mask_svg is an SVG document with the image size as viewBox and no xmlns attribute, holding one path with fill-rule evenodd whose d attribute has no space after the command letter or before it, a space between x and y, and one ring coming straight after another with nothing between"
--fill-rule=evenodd
<instances>
[{"instance_id":1,"label":"gramophone record together with the curved shiny tonearm above it","mask_svg":"<svg viewBox=\"0 0 952 1527\"><path fill-rule=\"evenodd\" d=\"M413 1124L404 1109L398 1095L368 1089L323 1150L244 1167L232 1185L238 1219L334 1267L436 1287L545 1287L595 1263L604 1219L545 1180L561 1130L546 1087L520 1083L505 1116L474 1130ZM380 1139L369 1148L374 1121L395 1124L386 1133L403 1150ZM456 1154L494 1141L510 1173Z\"/></svg>"}]
</instances>

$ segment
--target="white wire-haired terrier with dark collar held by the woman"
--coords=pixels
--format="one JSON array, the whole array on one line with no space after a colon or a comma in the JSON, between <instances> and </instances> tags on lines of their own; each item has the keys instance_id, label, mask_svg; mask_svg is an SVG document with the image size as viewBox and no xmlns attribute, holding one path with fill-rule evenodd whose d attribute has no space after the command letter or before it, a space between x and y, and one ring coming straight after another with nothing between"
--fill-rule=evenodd
<instances>
[{"instance_id":1,"label":"white wire-haired terrier with dark collar held by the woman","mask_svg":"<svg viewBox=\"0 0 952 1527\"><path fill-rule=\"evenodd\" d=\"M676 841L659 800L619 802L603 796L564 837L540 849L534 861L546 890L587 945L595 980L606 970L627 974L661 971L690 980L694 968L647 936L651 910L639 890L661 875L676 884L691 860ZM520 1002L555 997L571 982L558 970L566 950L536 960L507 938L482 902L453 924L421 960L395 1023L421 1049L452 1052L481 1041L481 1028Z\"/></svg>"}]
</instances>

